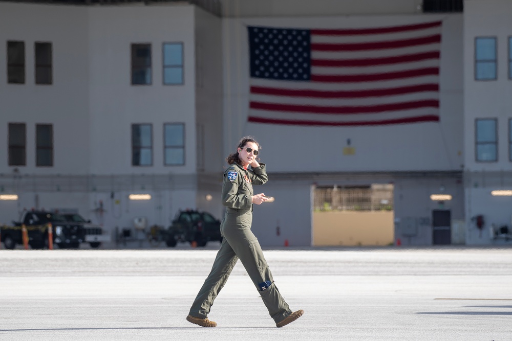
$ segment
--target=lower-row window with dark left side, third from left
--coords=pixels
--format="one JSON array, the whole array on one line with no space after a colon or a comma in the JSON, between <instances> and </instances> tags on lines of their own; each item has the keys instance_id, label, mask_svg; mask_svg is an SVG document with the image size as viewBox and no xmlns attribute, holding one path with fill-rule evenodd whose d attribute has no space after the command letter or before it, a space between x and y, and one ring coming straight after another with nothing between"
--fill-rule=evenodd
<instances>
[{"instance_id":1,"label":"lower-row window with dark left side, third from left","mask_svg":"<svg viewBox=\"0 0 512 341\"><path fill-rule=\"evenodd\" d=\"M153 127L132 124L132 166L153 165Z\"/></svg>"}]
</instances>

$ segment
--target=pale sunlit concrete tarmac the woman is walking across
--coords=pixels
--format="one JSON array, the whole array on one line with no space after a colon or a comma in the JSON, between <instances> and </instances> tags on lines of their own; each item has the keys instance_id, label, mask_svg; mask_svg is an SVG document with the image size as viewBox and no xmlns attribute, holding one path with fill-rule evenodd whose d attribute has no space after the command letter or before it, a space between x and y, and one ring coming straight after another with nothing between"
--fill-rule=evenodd
<instances>
[{"instance_id":1,"label":"pale sunlit concrete tarmac the woman is walking across","mask_svg":"<svg viewBox=\"0 0 512 341\"><path fill-rule=\"evenodd\" d=\"M216 247L0 251L0 340L512 340L512 248L265 250L296 322L276 328L240 262L185 316Z\"/></svg>"}]
</instances>

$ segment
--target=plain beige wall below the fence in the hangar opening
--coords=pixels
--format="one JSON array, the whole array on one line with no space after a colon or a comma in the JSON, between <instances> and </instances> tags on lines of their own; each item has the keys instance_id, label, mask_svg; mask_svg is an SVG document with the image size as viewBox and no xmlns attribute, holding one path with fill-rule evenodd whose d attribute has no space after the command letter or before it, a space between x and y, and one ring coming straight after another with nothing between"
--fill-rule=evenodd
<instances>
[{"instance_id":1,"label":"plain beige wall below the fence in the hangar opening","mask_svg":"<svg viewBox=\"0 0 512 341\"><path fill-rule=\"evenodd\" d=\"M394 241L393 211L314 212L313 245L388 245Z\"/></svg>"}]
</instances>

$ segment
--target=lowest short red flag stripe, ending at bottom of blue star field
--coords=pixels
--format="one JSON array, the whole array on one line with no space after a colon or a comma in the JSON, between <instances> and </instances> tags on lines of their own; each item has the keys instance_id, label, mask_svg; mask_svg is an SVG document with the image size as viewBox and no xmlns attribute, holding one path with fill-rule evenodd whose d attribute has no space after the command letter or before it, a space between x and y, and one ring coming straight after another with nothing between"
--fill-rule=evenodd
<instances>
[{"instance_id":1,"label":"lowest short red flag stripe, ending at bottom of blue star field","mask_svg":"<svg viewBox=\"0 0 512 341\"><path fill-rule=\"evenodd\" d=\"M412 78L420 76L437 76L439 67L425 67L423 69L414 69L406 71L395 71L380 74L360 74L360 75L311 75L313 82L322 83L355 83L355 82L375 82L401 78Z\"/></svg>"}]
</instances>

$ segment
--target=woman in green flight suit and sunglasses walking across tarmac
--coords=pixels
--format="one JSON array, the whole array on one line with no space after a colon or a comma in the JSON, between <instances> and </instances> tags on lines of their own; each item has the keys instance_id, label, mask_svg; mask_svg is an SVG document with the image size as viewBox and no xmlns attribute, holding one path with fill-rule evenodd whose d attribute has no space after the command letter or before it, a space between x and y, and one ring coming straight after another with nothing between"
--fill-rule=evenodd
<instances>
[{"instance_id":1,"label":"woman in green flight suit and sunglasses walking across tarmac","mask_svg":"<svg viewBox=\"0 0 512 341\"><path fill-rule=\"evenodd\" d=\"M252 185L263 185L268 180L265 164L257 161L258 149L258 142L245 137L240 140L237 152L226 158L230 166L224 172L222 183L222 203L226 207L220 228L223 240L210 274L187 316L187 321L202 327L217 326L206 316L239 258L277 327L295 321L304 313L304 310L290 310L274 284L260 243L251 232L252 205L268 200L265 194L254 195L252 190ZM249 165L252 169L247 169Z\"/></svg>"}]
</instances>

